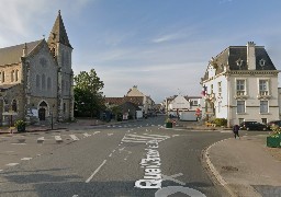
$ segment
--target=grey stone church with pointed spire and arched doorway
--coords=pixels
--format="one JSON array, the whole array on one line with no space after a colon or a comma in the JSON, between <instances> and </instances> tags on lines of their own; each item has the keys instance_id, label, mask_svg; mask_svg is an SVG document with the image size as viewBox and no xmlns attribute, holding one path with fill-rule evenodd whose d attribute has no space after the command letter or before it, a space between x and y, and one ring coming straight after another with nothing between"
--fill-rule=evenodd
<instances>
[{"instance_id":1,"label":"grey stone church with pointed spire and arched doorway","mask_svg":"<svg viewBox=\"0 0 281 197\"><path fill-rule=\"evenodd\" d=\"M0 48L0 121L74 119L72 47L58 11L48 39Z\"/></svg>"}]
</instances>

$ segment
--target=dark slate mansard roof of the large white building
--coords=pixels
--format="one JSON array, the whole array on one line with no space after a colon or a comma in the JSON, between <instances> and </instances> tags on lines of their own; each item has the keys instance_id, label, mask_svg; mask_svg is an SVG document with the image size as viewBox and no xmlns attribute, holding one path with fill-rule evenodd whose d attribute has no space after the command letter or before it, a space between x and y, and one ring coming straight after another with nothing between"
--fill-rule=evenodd
<instances>
[{"instance_id":1,"label":"dark slate mansard roof of the large white building","mask_svg":"<svg viewBox=\"0 0 281 197\"><path fill-rule=\"evenodd\" d=\"M256 70L277 70L263 46L255 46L255 54ZM237 66L237 60L239 59L243 60L240 67ZM261 59L266 60L265 67L259 63ZM216 74L222 73L226 66L229 66L229 70L248 70L247 46L229 46L213 58L212 62L216 68ZM203 80L207 78L207 72L205 72Z\"/></svg>"}]
</instances>

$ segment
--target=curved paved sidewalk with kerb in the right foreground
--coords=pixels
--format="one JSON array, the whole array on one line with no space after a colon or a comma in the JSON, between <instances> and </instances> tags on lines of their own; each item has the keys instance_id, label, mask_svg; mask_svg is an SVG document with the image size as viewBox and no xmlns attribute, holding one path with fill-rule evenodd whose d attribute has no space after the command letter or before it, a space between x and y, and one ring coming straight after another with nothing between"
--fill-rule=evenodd
<instances>
[{"instance_id":1,"label":"curved paved sidewalk with kerb in the right foreground","mask_svg":"<svg viewBox=\"0 0 281 197\"><path fill-rule=\"evenodd\" d=\"M210 170L232 196L281 196L281 149L266 147L266 137L226 139L206 150Z\"/></svg>"}]
</instances>

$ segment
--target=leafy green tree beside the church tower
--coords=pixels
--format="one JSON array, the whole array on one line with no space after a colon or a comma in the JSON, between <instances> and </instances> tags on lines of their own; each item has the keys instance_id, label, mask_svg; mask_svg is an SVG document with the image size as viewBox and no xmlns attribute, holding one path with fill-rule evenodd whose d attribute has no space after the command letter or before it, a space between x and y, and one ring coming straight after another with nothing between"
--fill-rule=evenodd
<instances>
[{"instance_id":1,"label":"leafy green tree beside the church tower","mask_svg":"<svg viewBox=\"0 0 281 197\"><path fill-rule=\"evenodd\" d=\"M104 108L103 81L94 69L90 72L81 71L75 76L75 113L76 116L97 116Z\"/></svg>"}]
</instances>

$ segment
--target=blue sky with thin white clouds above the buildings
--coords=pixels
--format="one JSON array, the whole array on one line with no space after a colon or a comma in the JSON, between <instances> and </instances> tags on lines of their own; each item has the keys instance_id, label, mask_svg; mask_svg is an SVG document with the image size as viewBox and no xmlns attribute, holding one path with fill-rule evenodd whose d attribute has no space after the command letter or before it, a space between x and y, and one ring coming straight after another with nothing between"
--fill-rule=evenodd
<instances>
[{"instance_id":1,"label":"blue sky with thin white clouds above the buildings","mask_svg":"<svg viewBox=\"0 0 281 197\"><path fill-rule=\"evenodd\" d=\"M278 0L1 0L1 48L47 38L60 10L75 73L95 69L105 96L133 85L157 103L200 95L211 57L247 42L265 46L281 70Z\"/></svg>"}]
</instances>

